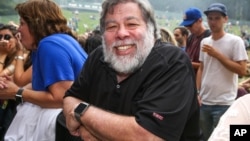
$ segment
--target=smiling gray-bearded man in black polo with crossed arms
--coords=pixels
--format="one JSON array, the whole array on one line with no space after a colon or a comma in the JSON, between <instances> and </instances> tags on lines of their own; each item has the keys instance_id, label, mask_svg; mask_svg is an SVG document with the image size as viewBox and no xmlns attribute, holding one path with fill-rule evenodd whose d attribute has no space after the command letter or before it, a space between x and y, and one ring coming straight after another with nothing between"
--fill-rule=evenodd
<instances>
[{"instance_id":1,"label":"smiling gray-bearded man in black polo with crossed arms","mask_svg":"<svg viewBox=\"0 0 250 141\"><path fill-rule=\"evenodd\" d=\"M105 0L102 10L103 45L64 97L70 133L83 140L198 141L191 62L161 42L150 3Z\"/></svg>"}]
</instances>

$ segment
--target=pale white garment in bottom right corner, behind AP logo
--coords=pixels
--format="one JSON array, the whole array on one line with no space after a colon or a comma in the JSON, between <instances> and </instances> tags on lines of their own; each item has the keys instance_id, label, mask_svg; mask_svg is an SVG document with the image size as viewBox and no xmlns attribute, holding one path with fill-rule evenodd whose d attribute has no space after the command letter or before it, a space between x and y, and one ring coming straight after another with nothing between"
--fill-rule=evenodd
<instances>
[{"instance_id":1,"label":"pale white garment in bottom right corner, behind AP logo","mask_svg":"<svg viewBox=\"0 0 250 141\"><path fill-rule=\"evenodd\" d=\"M208 141L229 141L231 124L250 124L250 94L238 98L229 107Z\"/></svg>"}]
</instances>

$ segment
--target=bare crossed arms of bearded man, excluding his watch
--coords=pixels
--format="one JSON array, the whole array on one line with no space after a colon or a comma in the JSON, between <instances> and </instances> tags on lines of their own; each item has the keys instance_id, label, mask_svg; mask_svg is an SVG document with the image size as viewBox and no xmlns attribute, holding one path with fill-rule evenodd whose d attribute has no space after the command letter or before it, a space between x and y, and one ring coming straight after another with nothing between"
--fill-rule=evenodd
<instances>
[{"instance_id":1,"label":"bare crossed arms of bearded man, excluding his watch","mask_svg":"<svg viewBox=\"0 0 250 141\"><path fill-rule=\"evenodd\" d=\"M89 106L81 116L81 124L74 118L74 109L80 103L74 97L64 98L64 115L67 128L72 135L88 140L136 140L163 141L141 127L134 116L124 116Z\"/></svg>"}]
</instances>

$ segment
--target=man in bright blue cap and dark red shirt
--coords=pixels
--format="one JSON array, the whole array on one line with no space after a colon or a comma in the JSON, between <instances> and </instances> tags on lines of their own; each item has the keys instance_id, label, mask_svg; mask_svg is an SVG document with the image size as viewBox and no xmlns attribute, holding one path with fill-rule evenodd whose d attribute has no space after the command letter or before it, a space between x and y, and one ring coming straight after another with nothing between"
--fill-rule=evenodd
<instances>
[{"instance_id":1,"label":"man in bright blue cap and dark red shirt","mask_svg":"<svg viewBox=\"0 0 250 141\"><path fill-rule=\"evenodd\" d=\"M204 26L202 14L196 7L188 8L185 11L180 25L185 26L191 32L187 40L186 52L192 61L195 73L197 73L200 66L200 42L203 38L210 35L210 31Z\"/></svg>"}]
</instances>

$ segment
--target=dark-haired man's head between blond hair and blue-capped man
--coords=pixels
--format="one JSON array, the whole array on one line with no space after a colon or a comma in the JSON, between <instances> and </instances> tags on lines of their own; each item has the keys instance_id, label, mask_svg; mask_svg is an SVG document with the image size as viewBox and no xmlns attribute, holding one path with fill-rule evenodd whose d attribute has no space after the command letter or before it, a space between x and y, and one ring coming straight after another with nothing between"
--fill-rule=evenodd
<instances>
[{"instance_id":1,"label":"dark-haired man's head between blond hair and blue-capped man","mask_svg":"<svg viewBox=\"0 0 250 141\"><path fill-rule=\"evenodd\" d=\"M185 27L176 27L174 28L174 37L175 40L178 43L178 47L180 47L182 50L186 50L186 46L187 46L187 39L189 36L189 32L188 29Z\"/></svg>"}]
</instances>

